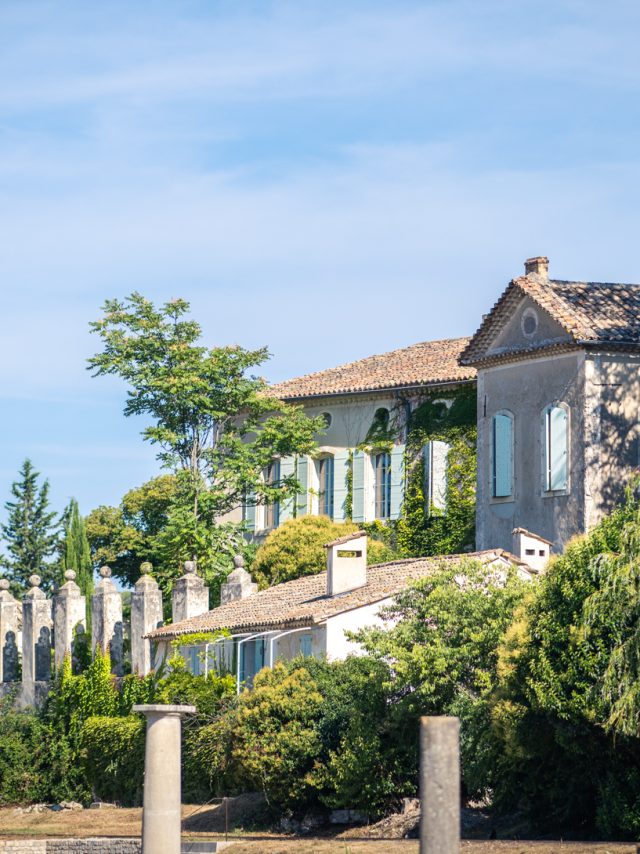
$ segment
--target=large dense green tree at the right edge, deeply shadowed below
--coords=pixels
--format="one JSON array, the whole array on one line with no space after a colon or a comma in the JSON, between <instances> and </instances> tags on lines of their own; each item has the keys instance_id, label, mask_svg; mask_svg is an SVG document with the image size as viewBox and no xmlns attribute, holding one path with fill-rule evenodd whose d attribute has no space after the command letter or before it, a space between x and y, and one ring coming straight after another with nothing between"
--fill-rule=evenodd
<instances>
[{"instance_id":1,"label":"large dense green tree at the right edge, deeply shadowed below","mask_svg":"<svg viewBox=\"0 0 640 854\"><path fill-rule=\"evenodd\" d=\"M633 693L625 696L634 686L625 684L626 666L616 674L625 640L637 631L624 597L633 586L625 576L637 572L638 513L629 495L571 541L500 644L495 804L546 832L640 832L640 739L637 718L628 728ZM627 711L630 718L619 717Z\"/></svg>"}]
</instances>

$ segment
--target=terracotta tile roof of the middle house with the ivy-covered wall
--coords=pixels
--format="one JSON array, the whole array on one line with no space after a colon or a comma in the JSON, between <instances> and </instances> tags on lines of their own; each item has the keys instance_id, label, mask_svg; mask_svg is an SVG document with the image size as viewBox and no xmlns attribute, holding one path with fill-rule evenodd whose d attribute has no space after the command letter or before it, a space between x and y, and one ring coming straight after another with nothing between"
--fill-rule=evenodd
<instances>
[{"instance_id":1,"label":"terracotta tile roof of the middle house with the ivy-covered wall","mask_svg":"<svg viewBox=\"0 0 640 854\"><path fill-rule=\"evenodd\" d=\"M458 357L468 343L468 338L424 341L285 380L272 386L271 391L286 400L473 380L475 370L458 364Z\"/></svg>"}]
</instances>

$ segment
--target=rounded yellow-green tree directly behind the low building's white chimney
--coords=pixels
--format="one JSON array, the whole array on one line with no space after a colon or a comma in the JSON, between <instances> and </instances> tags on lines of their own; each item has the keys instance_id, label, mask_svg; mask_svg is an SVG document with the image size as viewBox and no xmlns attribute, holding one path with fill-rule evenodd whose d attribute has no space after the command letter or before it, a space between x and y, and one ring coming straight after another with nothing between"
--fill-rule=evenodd
<instances>
[{"instance_id":1,"label":"rounded yellow-green tree directly behind the low building's white chimney","mask_svg":"<svg viewBox=\"0 0 640 854\"><path fill-rule=\"evenodd\" d=\"M272 531L256 551L251 572L260 587L270 587L303 575L316 575L327 568L325 543L359 530L353 522L332 522L327 516L290 519ZM384 543L369 539L369 564L393 560L394 552Z\"/></svg>"}]
</instances>

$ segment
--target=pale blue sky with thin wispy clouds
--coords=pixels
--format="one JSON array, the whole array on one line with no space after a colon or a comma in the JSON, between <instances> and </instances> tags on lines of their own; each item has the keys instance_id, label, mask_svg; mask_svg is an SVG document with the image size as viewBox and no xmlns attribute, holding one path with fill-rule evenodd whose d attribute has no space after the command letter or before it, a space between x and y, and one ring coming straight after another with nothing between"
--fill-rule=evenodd
<instances>
[{"instance_id":1,"label":"pale blue sky with thin wispy clouds","mask_svg":"<svg viewBox=\"0 0 640 854\"><path fill-rule=\"evenodd\" d=\"M530 255L640 281L640 4L0 3L0 502L156 471L88 322L137 289L277 380L468 334Z\"/></svg>"}]
</instances>

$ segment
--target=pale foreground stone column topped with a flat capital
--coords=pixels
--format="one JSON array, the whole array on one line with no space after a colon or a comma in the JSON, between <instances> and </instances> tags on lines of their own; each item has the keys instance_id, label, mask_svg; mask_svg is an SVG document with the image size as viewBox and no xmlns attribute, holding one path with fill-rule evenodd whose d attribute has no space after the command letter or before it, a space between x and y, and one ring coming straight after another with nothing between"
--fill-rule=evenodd
<instances>
[{"instance_id":1,"label":"pale foreground stone column topped with a flat capital","mask_svg":"<svg viewBox=\"0 0 640 854\"><path fill-rule=\"evenodd\" d=\"M180 722L194 706L134 706L147 719L142 854L180 854Z\"/></svg>"}]
</instances>

